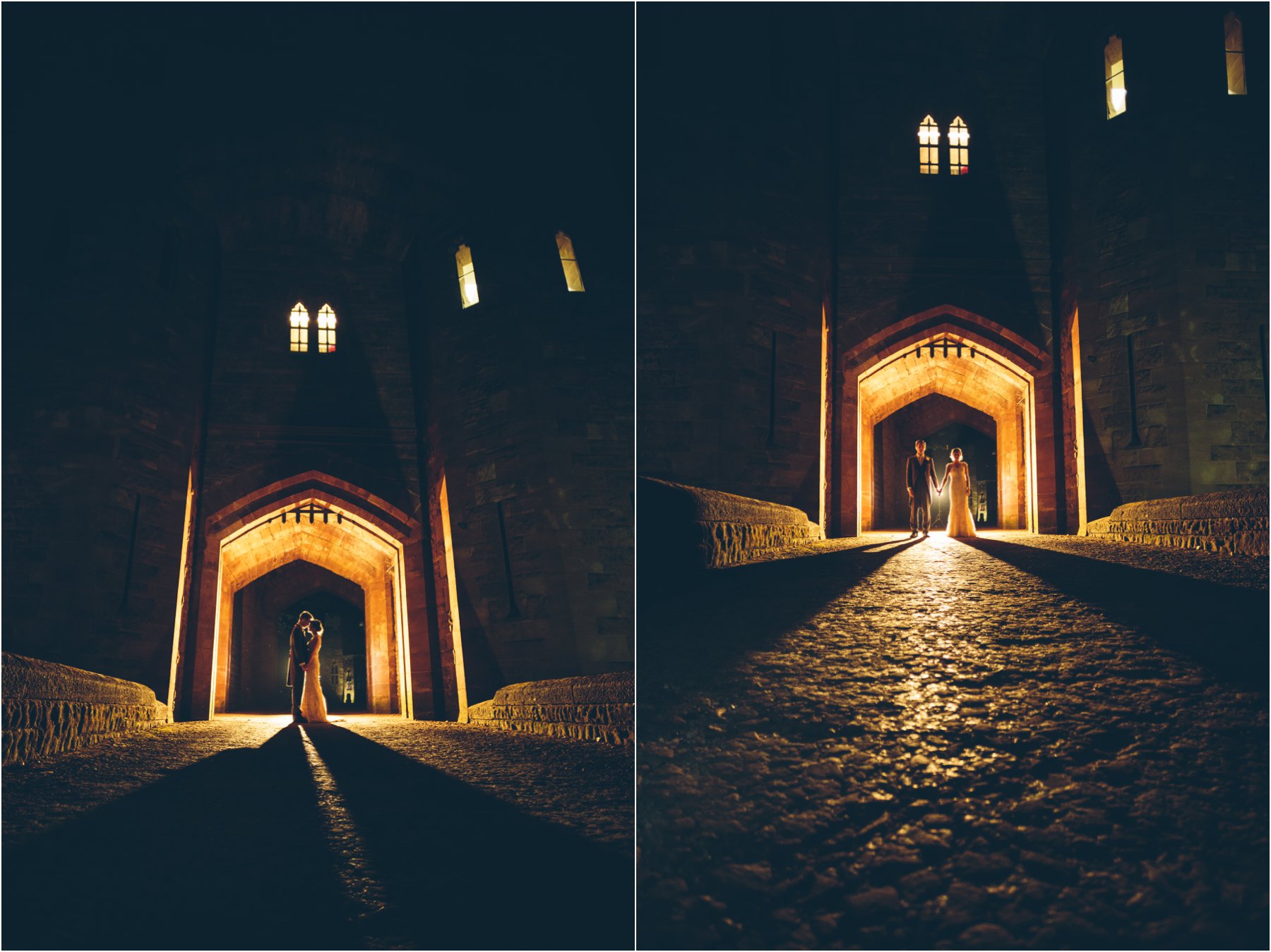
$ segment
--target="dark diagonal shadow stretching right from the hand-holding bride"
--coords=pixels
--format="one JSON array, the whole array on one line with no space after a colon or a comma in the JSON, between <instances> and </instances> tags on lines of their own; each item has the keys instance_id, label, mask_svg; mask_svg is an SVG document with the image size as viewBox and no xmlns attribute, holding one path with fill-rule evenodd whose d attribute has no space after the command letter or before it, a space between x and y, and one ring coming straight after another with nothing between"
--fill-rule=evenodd
<instances>
[{"instance_id":1,"label":"dark diagonal shadow stretching right from the hand-holding bride","mask_svg":"<svg viewBox=\"0 0 1271 952\"><path fill-rule=\"evenodd\" d=\"M1267 594L1187 576L1038 549L960 539L1097 608L1106 618L1188 655L1237 684L1266 690Z\"/></svg>"}]
</instances>

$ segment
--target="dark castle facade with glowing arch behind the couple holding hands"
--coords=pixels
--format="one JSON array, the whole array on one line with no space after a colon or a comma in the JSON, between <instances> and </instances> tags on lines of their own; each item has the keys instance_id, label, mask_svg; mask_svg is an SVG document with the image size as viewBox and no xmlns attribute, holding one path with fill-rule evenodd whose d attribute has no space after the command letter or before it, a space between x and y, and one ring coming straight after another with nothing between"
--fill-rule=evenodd
<instances>
[{"instance_id":1,"label":"dark castle facade with glowing arch behind the couple holding hands","mask_svg":"<svg viewBox=\"0 0 1271 952\"><path fill-rule=\"evenodd\" d=\"M1265 487L1266 32L646 10L639 473L829 535L905 522L915 436L980 447L1004 529Z\"/></svg>"}]
</instances>

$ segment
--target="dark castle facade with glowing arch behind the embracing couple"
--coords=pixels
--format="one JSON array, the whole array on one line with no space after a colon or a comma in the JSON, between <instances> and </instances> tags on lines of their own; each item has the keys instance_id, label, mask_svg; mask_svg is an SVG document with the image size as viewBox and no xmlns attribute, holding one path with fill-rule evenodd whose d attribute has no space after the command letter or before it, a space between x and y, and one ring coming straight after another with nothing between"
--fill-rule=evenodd
<instances>
[{"instance_id":1,"label":"dark castle facade with glowing arch behind the embracing couple","mask_svg":"<svg viewBox=\"0 0 1271 952\"><path fill-rule=\"evenodd\" d=\"M285 709L315 599L337 709L630 669L629 13L57 20L5 18L6 651L180 718Z\"/></svg>"}]
</instances>

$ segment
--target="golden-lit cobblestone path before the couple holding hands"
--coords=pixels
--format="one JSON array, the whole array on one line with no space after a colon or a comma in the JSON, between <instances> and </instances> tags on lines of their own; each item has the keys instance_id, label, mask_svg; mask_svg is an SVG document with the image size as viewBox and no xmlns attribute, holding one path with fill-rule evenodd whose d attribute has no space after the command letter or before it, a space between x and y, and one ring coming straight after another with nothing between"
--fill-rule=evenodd
<instances>
[{"instance_id":1,"label":"golden-lit cobblestone path before the couple holding hands","mask_svg":"<svg viewBox=\"0 0 1271 952\"><path fill-rule=\"evenodd\" d=\"M1266 948L1266 559L872 534L642 590L641 948Z\"/></svg>"}]
</instances>

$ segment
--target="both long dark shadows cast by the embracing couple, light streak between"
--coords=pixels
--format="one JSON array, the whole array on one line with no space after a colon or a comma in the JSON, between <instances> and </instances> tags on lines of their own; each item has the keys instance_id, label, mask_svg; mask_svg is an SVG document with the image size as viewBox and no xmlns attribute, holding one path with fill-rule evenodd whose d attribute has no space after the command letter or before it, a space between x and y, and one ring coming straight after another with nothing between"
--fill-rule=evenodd
<instances>
[{"instance_id":1,"label":"both long dark shadows cast by the embracing couple, light streak between","mask_svg":"<svg viewBox=\"0 0 1271 952\"><path fill-rule=\"evenodd\" d=\"M4 947L630 946L628 857L343 728L308 732L383 902L342 883L289 727L6 847Z\"/></svg>"}]
</instances>

